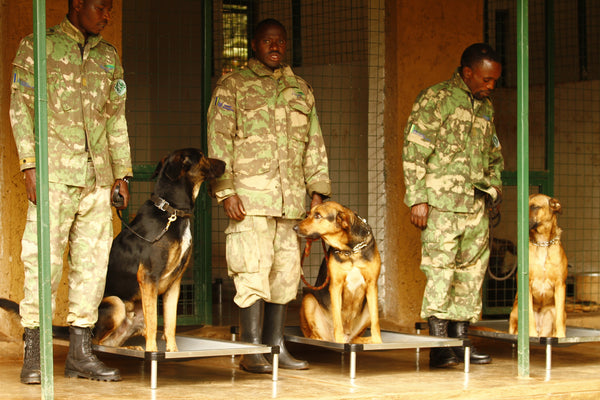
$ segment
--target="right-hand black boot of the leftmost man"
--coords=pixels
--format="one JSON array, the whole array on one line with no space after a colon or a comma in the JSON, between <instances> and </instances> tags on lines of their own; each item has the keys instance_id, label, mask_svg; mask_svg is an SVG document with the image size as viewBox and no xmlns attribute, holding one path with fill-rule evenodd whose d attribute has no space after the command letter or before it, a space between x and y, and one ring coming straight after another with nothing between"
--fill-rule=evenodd
<instances>
[{"instance_id":1,"label":"right-hand black boot of the leftmost man","mask_svg":"<svg viewBox=\"0 0 600 400\"><path fill-rule=\"evenodd\" d=\"M92 331L78 326L69 327L69 353L65 361L67 378L87 378L97 381L120 381L116 368L109 368L92 352Z\"/></svg>"}]
</instances>

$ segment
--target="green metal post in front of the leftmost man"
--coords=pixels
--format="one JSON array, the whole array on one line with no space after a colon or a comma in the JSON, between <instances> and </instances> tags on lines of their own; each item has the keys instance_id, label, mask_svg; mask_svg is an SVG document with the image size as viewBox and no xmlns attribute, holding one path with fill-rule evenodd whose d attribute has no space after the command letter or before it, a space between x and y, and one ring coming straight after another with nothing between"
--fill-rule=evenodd
<instances>
[{"instance_id":1,"label":"green metal post in front of the leftmost man","mask_svg":"<svg viewBox=\"0 0 600 400\"><path fill-rule=\"evenodd\" d=\"M33 2L35 154L40 295L42 398L54 398L52 300L50 291L50 201L48 196L48 94L46 91L46 1Z\"/></svg>"}]
</instances>

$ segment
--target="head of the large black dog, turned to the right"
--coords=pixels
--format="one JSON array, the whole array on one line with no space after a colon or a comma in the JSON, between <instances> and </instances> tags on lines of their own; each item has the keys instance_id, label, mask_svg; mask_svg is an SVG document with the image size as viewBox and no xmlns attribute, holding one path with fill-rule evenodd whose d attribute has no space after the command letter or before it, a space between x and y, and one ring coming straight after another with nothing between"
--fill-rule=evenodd
<instances>
[{"instance_id":1,"label":"head of the large black dog, turned to the right","mask_svg":"<svg viewBox=\"0 0 600 400\"><path fill-rule=\"evenodd\" d=\"M175 150L159 161L152 178L157 178L155 193L161 197L166 193L184 188L192 203L198 197L202 182L216 179L225 172L225 163L208 158L198 149ZM172 197L172 196L169 196Z\"/></svg>"}]
</instances>

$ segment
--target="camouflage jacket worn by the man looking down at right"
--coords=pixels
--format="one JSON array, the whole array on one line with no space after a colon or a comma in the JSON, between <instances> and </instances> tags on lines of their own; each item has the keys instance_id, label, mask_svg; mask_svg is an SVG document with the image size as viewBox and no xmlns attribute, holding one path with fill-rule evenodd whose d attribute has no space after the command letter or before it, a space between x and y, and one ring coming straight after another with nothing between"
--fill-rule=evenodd
<instances>
[{"instance_id":1,"label":"camouflage jacket worn by the man looking down at right","mask_svg":"<svg viewBox=\"0 0 600 400\"><path fill-rule=\"evenodd\" d=\"M404 130L404 202L454 212L471 209L475 188L496 197L501 146L489 99L471 95L458 71L419 94Z\"/></svg>"}]
</instances>

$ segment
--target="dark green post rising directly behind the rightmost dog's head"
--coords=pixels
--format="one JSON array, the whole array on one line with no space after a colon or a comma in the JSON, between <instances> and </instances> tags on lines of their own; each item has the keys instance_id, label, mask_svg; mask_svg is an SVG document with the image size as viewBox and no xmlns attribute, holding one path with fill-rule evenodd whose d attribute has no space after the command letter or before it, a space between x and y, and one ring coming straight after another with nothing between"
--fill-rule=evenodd
<instances>
[{"instance_id":1,"label":"dark green post rising directly behind the rightmost dog's head","mask_svg":"<svg viewBox=\"0 0 600 400\"><path fill-rule=\"evenodd\" d=\"M546 171L548 196L554 196L554 0L546 0Z\"/></svg>"}]
</instances>

